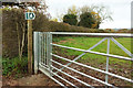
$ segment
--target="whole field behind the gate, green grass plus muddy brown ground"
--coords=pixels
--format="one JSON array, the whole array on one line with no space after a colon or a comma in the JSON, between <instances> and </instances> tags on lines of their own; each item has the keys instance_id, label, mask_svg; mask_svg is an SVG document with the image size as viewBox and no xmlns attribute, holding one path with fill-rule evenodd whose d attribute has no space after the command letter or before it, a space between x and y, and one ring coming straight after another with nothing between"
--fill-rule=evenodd
<instances>
[{"instance_id":1,"label":"whole field behind the gate, green grass plus muddy brown ground","mask_svg":"<svg viewBox=\"0 0 133 88\"><path fill-rule=\"evenodd\" d=\"M64 45L64 46L70 46L70 47L89 50L90 47L95 45L103 37L60 36L60 37L53 37L53 43ZM115 40L131 52L131 38L130 37L116 37ZM92 51L100 52L100 53L106 53L106 47L108 47L108 40L105 40L103 43L98 45ZM69 59L74 59L76 56L81 55L83 52L78 52L78 51L72 51L72 50L66 50L66 48L53 46L53 53L59 55L59 56L69 58ZM126 53L124 53L112 41L110 41L110 54L130 57ZM58 59L58 58L55 58L55 59L60 62L60 59ZM61 62L64 64L68 63L63 59ZM106 67L106 56L96 55L96 54L86 53L81 58L79 58L76 62L82 63L82 64L86 64L86 65L95 67L95 68L100 68L102 70L105 70L105 67ZM73 64L71 67L74 67L74 66L75 65ZM126 78L131 78L131 75L132 75L132 67L131 66L132 66L131 61L124 61L124 59L120 59L120 58L109 57L109 72L110 73L113 73L113 74L116 74L120 76L124 76ZM86 72L88 69L82 68L82 67L80 67L80 68L84 73L88 73ZM95 72L91 72L88 74L93 75L94 77L98 77L98 78L100 77L100 78L104 79L103 75L100 75ZM116 84L117 86L131 85L130 82L126 82L126 81L123 81L120 79L115 79L113 77L110 77L109 81L111 84Z\"/></svg>"}]
</instances>

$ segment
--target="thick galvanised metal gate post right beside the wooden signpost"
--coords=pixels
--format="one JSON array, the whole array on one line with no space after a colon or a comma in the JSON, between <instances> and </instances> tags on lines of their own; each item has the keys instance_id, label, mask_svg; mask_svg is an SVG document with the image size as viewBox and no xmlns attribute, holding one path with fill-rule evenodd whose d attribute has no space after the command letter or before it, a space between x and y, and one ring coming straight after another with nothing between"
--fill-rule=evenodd
<instances>
[{"instance_id":1,"label":"thick galvanised metal gate post right beside the wooden signpost","mask_svg":"<svg viewBox=\"0 0 133 88\"><path fill-rule=\"evenodd\" d=\"M39 32L33 33L33 42L34 42L34 74L38 74L39 69Z\"/></svg>"}]
</instances>

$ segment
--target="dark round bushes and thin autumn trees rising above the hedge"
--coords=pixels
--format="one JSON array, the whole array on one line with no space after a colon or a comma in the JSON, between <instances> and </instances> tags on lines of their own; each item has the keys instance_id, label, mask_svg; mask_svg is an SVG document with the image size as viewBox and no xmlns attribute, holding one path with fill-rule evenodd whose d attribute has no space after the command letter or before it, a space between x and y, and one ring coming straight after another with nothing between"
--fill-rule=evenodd
<instances>
[{"instance_id":1,"label":"dark round bushes and thin autumn trees rising above the hedge","mask_svg":"<svg viewBox=\"0 0 133 88\"><path fill-rule=\"evenodd\" d=\"M64 14L59 15L53 21L58 21L59 19L70 25L99 29L103 21L113 21L111 14L104 6L84 6L82 8L72 6Z\"/></svg>"}]
</instances>

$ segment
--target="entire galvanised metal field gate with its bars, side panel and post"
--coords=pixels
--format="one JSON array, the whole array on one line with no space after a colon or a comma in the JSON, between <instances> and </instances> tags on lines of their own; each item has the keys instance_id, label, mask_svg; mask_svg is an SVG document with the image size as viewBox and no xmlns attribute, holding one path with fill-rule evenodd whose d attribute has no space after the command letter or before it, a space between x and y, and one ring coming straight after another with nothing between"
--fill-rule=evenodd
<instances>
[{"instance_id":1,"label":"entire galvanised metal field gate with its bars, side panel and post","mask_svg":"<svg viewBox=\"0 0 133 88\"><path fill-rule=\"evenodd\" d=\"M70 46L63 46L63 45L59 45L59 44L53 44L52 43L52 35L88 35L88 36L102 36L103 40L101 40L100 42L98 42L95 45L93 45L92 47L90 47L89 50L82 50L82 48L75 48L75 47L70 47ZM38 70L41 70L42 73L44 73L47 76L49 76L51 79L53 79L55 82L58 82L59 85L61 85L62 87L66 87L65 85L63 85L60 80L58 80L55 77L60 78L61 80L70 84L73 87L76 87L74 84L70 82L69 80L66 80L65 78L61 77L60 75L58 75L58 73L60 72L61 74L72 78L73 80L76 80L81 84L83 84L84 86L88 87L92 87L90 84L84 82L80 79L78 79L76 77L71 76L70 74L63 72L63 68L68 68L69 70L72 70L74 73L78 73L82 76L85 76L92 80L99 81L105 86L110 86L110 87L115 87L112 84L109 84L109 76L113 76L115 78L120 78L123 80L126 80L129 82L133 82L132 79L125 78L123 76L119 76L116 74L112 74L109 72L109 57L114 57L114 58L119 58L119 59L125 59L125 61L131 61L133 62L133 54L126 50L122 44L120 44L114 37L132 37L132 34L125 34L125 33L71 33L71 32L34 32L33 33L33 41L34 41L34 73L37 73ZM108 40L108 50L106 53L100 53L100 52L93 52L91 50L93 50L94 47L96 47L98 45L100 45L102 42L104 42L105 40ZM113 55L110 54L110 41L114 42L120 48L122 48L130 57L124 57L124 56L119 56L119 55ZM55 55L52 53L52 47L57 46L57 47L62 47L62 48L68 48L68 50L73 50L73 51L79 51L79 52L83 52L83 54L79 55L78 57L75 57L74 59L68 59L64 58L62 56ZM102 56L106 56L106 69L102 70L102 69L98 69L95 67L92 66L88 66L85 64L82 63L78 63L76 61L82 57L84 54L86 53L92 53L92 54L98 54L98 55L102 55ZM63 65L59 62L55 62L52 59L52 57L58 57L59 59L64 59L66 62L69 62L66 65ZM57 68L54 67L52 64L57 64L62 66L62 68ZM92 77L90 75L86 75L82 72L79 72L74 68L69 67L69 65L71 64L75 64L89 69L93 69L96 70L99 73L105 74L105 81L98 79L95 77ZM57 72L54 73L53 69L55 69ZM76 87L78 88L78 87Z\"/></svg>"}]
</instances>

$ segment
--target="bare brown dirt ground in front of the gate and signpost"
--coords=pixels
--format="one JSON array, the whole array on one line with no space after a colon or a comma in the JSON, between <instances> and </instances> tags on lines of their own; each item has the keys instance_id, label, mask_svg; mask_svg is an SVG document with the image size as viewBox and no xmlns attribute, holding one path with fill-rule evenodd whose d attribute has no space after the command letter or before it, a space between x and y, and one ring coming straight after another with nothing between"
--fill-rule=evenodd
<instances>
[{"instance_id":1,"label":"bare brown dirt ground in front of the gate and signpost","mask_svg":"<svg viewBox=\"0 0 133 88\"><path fill-rule=\"evenodd\" d=\"M31 75L16 80L3 78L2 84L3 86L59 86L43 74Z\"/></svg>"}]
</instances>

